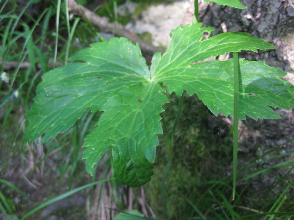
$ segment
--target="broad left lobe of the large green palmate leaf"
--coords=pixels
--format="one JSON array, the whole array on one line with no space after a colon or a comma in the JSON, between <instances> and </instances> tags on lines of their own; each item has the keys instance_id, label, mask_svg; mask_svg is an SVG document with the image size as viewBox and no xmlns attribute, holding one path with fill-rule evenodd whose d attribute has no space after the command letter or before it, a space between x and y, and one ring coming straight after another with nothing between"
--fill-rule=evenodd
<instances>
[{"instance_id":1,"label":"broad left lobe of the large green palmate leaf","mask_svg":"<svg viewBox=\"0 0 294 220\"><path fill-rule=\"evenodd\" d=\"M47 131L41 141L44 143L70 128L86 109L101 111L115 92L126 85L146 83L150 74L139 47L124 38L93 44L71 60L85 63L57 68L43 76L27 116L31 123L25 141L34 141Z\"/></svg>"}]
</instances>

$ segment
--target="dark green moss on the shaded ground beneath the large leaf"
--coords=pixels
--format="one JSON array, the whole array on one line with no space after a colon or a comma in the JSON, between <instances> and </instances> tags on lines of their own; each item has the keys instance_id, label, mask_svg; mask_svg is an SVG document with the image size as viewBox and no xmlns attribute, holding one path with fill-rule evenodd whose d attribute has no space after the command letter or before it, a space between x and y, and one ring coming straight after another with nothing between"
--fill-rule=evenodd
<instances>
[{"instance_id":1,"label":"dark green moss on the shaded ground beneath the large leaf","mask_svg":"<svg viewBox=\"0 0 294 220\"><path fill-rule=\"evenodd\" d=\"M163 116L171 129L178 107L178 97L171 95L171 103L164 106ZM208 126L208 117L215 117L196 96L185 97L183 112L178 122L173 149L173 164L166 179L166 202L168 219L187 219L193 214L193 203L201 195L200 188L205 187L208 180L217 179L214 173L216 158L220 155L224 141L216 131ZM154 175L151 182L145 185L146 197L158 218L163 218L161 199L161 179L166 168L166 138L160 136L157 147ZM229 163L229 161L227 161ZM211 177L214 175L214 177ZM185 195L186 197L184 197Z\"/></svg>"}]
</instances>

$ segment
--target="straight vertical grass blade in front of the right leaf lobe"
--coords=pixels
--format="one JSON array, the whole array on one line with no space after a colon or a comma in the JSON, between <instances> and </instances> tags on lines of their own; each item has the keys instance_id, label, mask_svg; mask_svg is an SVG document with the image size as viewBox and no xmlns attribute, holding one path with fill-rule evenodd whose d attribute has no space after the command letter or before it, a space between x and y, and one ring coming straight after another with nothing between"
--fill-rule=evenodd
<instances>
[{"instance_id":1,"label":"straight vertical grass blade in front of the right leaf lobe","mask_svg":"<svg viewBox=\"0 0 294 220\"><path fill-rule=\"evenodd\" d=\"M238 121L239 121L239 59L238 52L233 52L234 58L234 124L233 124L233 201L235 200L237 180L238 154Z\"/></svg>"}]
</instances>

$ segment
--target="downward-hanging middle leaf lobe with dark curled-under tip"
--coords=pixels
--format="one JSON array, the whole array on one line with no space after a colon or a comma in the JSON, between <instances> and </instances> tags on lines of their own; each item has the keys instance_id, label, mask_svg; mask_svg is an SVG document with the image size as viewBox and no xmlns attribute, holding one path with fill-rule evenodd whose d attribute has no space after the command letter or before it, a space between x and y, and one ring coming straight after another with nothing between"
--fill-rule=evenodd
<instances>
[{"instance_id":1,"label":"downward-hanging middle leaf lobe with dark curled-under tip","mask_svg":"<svg viewBox=\"0 0 294 220\"><path fill-rule=\"evenodd\" d=\"M83 158L93 172L108 146L112 146L115 177L130 186L143 185L153 175L156 134L162 133L159 113L168 102L156 83L123 89L108 99L97 126L87 136Z\"/></svg>"}]
</instances>

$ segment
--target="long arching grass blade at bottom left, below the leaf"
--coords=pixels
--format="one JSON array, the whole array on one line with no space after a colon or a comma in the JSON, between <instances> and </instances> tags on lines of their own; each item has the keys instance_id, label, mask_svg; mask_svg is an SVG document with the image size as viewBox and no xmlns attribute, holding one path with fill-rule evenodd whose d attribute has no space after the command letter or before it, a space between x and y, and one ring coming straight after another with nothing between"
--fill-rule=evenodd
<instances>
[{"instance_id":1,"label":"long arching grass blade at bottom left, below the leaf","mask_svg":"<svg viewBox=\"0 0 294 220\"><path fill-rule=\"evenodd\" d=\"M61 195L59 195L59 196L56 196L56 197L54 197L53 199L49 199L47 202L44 202L43 204L41 204L41 205L37 206L36 208L34 208L33 210L29 211L29 212L28 212L26 215L24 215L20 220L26 219L26 218L29 217L30 215L34 214L36 211L38 211L38 210L40 210L40 209L43 209L44 207L46 207L46 206L48 206L48 205L50 205L50 204L52 204L52 203L54 203L54 202L57 202L57 201L59 201L59 200L61 200L61 199L64 199L64 198L66 198L66 197L69 197L69 196L71 196L71 195L73 195L73 194L75 194L75 193L77 193L77 192L79 192L79 191L81 191L81 190L83 190L83 189L86 189L86 188L91 187L91 186L94 186L94 185L96 185L96 184L98 184L98 183L107 182L107 181L110 181L110 180L114 180L114 178L110 178L110 179L105 179L105 180L99 180L99 181L96 181L96 182L92 182L92 183L89 183L89 184L87 184L87 185L84 185L84 186L78 187L78 188L76 188L76 189L73 189L73 190L71 190L71 191L69 191L69 192L63 193L63 194L61 194Z\"/></svg>"}]
</instances>

